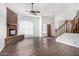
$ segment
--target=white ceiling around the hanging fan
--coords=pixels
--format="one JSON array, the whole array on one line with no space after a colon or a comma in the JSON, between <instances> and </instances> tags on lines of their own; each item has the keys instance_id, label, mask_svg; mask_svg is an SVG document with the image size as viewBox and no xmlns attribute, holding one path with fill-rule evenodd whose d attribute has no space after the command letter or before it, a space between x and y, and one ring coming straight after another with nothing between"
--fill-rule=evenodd
<instances>
[{"instance_id":1,"label":"white ceiling around the hanging fan","mask_svg":"<svg viewBox=\"0 0 79 59\"><path fill-rule=\"evenodd\" d=\"M14 10L18 14L29 15L28 10L31 10L31 3L7 3L7 7ZM63 12L72 13L72 11L77 11L79 9L79 4L76 3L35 3L34 10L39 10L41 16L57 16Z\"/></svg>"}]
</instances>

